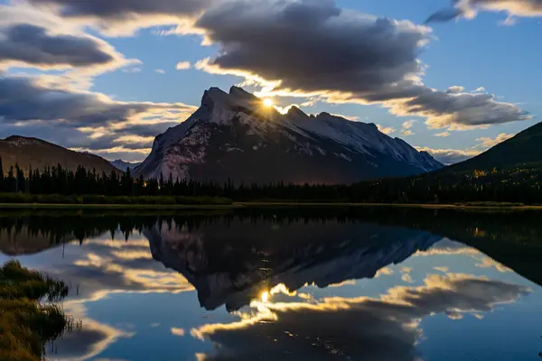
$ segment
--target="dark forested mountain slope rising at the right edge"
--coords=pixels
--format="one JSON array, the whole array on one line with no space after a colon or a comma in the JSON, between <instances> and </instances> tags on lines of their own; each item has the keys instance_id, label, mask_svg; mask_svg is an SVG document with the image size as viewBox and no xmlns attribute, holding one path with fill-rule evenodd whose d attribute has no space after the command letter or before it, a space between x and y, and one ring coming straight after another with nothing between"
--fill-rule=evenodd
<instances>
[{"instance_id":1,"label":"dark forested mountain slope rising at the right edge","mask_svg":"<svg viewBox=\"0 0 542 361\"><path fill-rule=\"evenodd\" d=\"M533 125L513 138L468 161L443 171L473 171L509 168L542 169L542 123Z\"/></svg>"}]
</instances>

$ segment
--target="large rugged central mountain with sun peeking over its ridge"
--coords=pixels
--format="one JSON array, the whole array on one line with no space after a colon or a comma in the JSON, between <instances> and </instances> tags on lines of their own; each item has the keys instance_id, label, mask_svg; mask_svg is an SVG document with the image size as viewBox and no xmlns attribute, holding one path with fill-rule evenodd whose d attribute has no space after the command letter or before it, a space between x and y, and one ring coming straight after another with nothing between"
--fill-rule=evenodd
<instances>
[{"instance_id":1,"label":"large rugged central mountain with sun peeking over its ridge","mask_svg":"<svg viewBox=\"0 0 542 361\"><path fill-rule=\"evenodd\" d=\"M268 183L350 183L434 171L428 153L376 125L297 107L282 115L241 88L207 90L201 107L154 140L135 175Z\"/></svg>"}]
</instances>

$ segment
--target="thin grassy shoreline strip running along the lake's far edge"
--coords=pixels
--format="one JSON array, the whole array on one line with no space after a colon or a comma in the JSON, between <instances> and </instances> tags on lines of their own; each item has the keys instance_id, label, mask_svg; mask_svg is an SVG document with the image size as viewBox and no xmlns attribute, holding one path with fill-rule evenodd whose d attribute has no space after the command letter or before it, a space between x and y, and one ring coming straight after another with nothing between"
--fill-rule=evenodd
<instances>
[{"instance_id":1,"label":"thin grassy shoreline strip running along the lake's far edge","mask_svg":"<svg viewBox=\"0 0 542 361\"><path fill-rule=\"evenodd\" d=\"M425 209L542 209L542 206L515 205L461 205L461 204L423 204L423 203L295 203L295 202L235 202L230 205L152 205L152 204L46 204L46 203L0 203L0 209L238 209L238 208L425 208Z\"/></svg>"}]
</instances>

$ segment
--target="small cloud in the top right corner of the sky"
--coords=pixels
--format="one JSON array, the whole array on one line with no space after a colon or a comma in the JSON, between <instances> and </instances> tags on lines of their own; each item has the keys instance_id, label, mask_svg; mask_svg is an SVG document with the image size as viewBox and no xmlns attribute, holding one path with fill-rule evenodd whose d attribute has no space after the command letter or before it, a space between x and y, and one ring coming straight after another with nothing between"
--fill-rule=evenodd
<instances>
[{"instance_id":1,"label":"small cloud in the top right corner of the sky","mask_svg":"<svg viewBox=\"0 0 542 361\"><path fill-rule=\"evenodd\" d=\"M479 11L505 12L509 16L503 22L515 23L513 16L542 16L540 0L453 0L453 7L439 10L427 19L426 23L448 22L459 17L472 19Z\"/></svg>"}]
</instances>

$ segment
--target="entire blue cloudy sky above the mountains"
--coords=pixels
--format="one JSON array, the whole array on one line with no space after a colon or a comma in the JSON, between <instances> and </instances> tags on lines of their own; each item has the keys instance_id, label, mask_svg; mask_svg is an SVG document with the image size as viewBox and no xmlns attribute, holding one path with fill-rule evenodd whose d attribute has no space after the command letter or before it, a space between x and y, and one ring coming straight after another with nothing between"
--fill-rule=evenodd
<instances>
[{"instance_id":1,"label":"entire blue cloudy sky above the mountains","mask_svg":"<svg viewBox=\"0 0 542 361\"><path fill-rule=\"evenodd\" d=\"M541 22L540 0L0 0L0 137L139 162L237 85L460 162L538 122Z\"/></svg>"}]
</instances>

